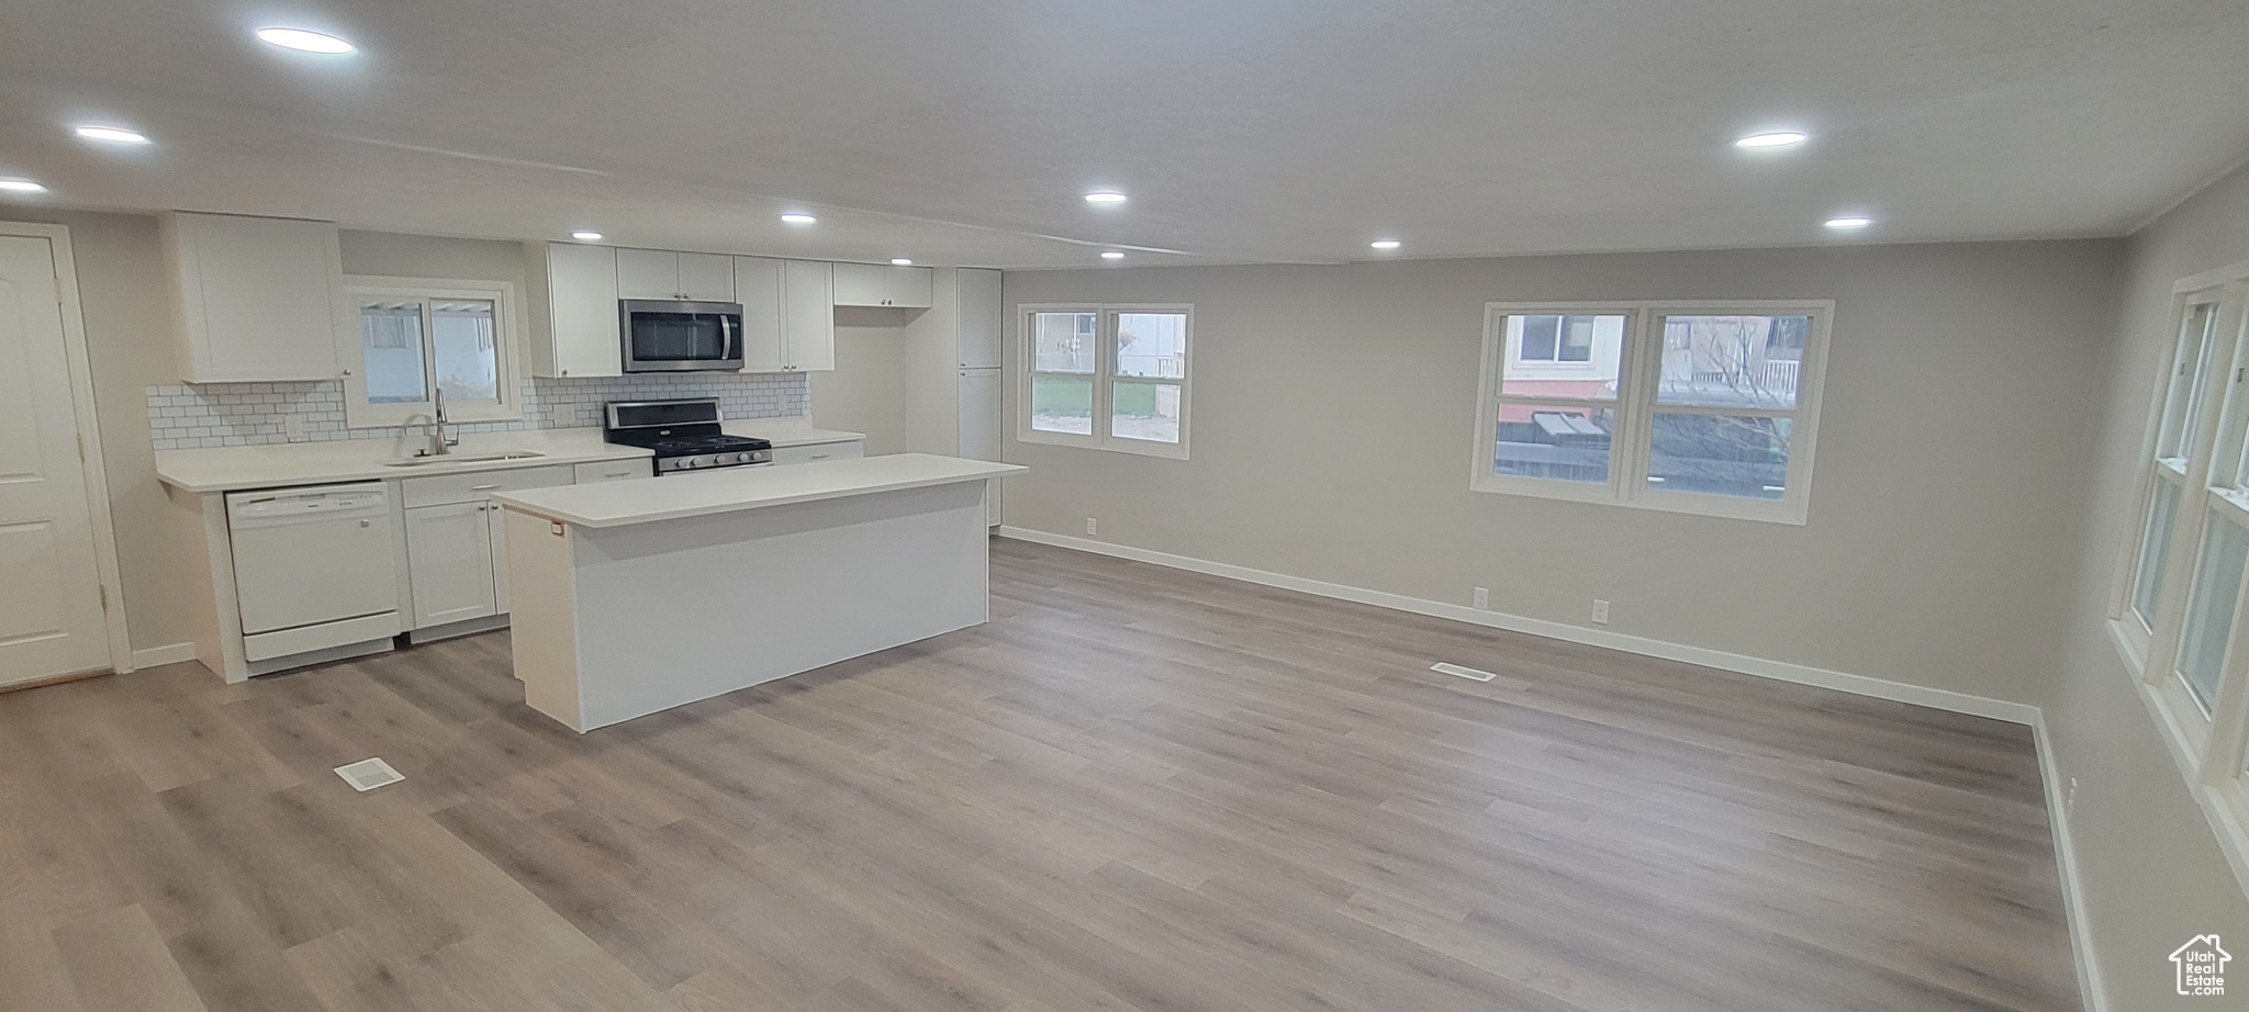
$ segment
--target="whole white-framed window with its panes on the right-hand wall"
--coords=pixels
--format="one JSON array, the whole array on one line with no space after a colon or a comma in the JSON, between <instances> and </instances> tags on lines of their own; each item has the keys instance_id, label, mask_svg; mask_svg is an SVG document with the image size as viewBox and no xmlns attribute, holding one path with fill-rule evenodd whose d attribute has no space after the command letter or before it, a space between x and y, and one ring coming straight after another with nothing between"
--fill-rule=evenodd
<instances>
[{"instance_id":1,"label":"whole white-framed window with its panes on the right-hand wall","mask_svg":"<svg viewBox=\"0 0 2249 1012\"><path fill-rule=\"evenodd\" d=\"M2249 263L2182 281L2110 614L2179 771L2249 888Z\"/></svg>"}]
</instances>

